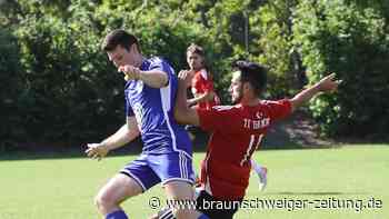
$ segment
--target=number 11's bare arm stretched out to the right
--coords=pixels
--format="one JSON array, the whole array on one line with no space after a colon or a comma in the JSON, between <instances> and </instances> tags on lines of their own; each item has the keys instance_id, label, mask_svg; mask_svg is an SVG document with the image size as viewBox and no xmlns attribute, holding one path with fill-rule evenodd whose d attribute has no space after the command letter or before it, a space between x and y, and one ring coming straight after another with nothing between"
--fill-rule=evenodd
<instances>
[{"instance_id":1,"label":"number 11's bare arm stretched out to the right","mask_svg":"<svg viewBox=\"0 0 389 219\"><path fill-rule=\"evenodd\" d=\"M335 73L322 78L319 82L315 83L312 87L302 90L297 93L292 99L290 99L292 111L301 107L305 102L309 101L313 96L319 92L329 92L338 88L341 81L335 80Z\"/></svg>"}]
</instances>

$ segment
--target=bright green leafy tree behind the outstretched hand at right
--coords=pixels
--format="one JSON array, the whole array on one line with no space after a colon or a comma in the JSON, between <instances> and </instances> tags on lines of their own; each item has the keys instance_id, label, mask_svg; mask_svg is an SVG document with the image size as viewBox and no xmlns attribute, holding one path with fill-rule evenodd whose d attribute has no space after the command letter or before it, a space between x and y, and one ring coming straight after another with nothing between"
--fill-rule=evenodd
<instances>
[{"instance_id":1,"label":"bright green leafy tree behind the outstretched hand at right","mask_svg":"<svg viewBox=\"0 0 389 219\"><path fill-rule=\"evenodd\" d=\"M383 14L345 0L305 0L298 7L295 40L311 78L333 71L343 80L337 94L321 96L311 107L328 133L361 137L389 130L389 36Z\"/></svg>"}]
</instances>

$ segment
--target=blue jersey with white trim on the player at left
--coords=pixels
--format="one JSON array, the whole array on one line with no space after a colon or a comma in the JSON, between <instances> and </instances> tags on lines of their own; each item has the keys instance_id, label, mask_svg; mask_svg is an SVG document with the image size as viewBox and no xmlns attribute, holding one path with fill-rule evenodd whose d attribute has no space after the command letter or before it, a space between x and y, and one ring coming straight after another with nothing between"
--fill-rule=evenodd
<instances>
[{"instance_id":1,"label":"blue jersey with white trim on the player at left","mask_svg":"<svg viewBox=\"0 0 389 219\"><path fill-rule=\"evenodd\" d=\"M141 80L130 80L126 84L126 115L134 116L143 141L146 153L168 153L182 151L191 158L192 147L187 131L176 122L173 107L178 78L172 67L154 57L143 60L140 70L158 69L168 74L168 86L151 88Z\"/></svg>"}]
</instances>

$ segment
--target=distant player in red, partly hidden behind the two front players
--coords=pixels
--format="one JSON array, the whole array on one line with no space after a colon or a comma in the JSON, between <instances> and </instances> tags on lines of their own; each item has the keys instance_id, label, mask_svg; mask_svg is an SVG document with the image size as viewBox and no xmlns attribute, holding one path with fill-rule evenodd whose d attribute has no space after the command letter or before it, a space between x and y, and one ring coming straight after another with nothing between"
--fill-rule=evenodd
<instances>
[{"instance_id":1,"label":"distant player in red, partly hidden behind the two front players","mask_svg":"<svg viewBox=\"0 0 389 219\"><path fill-rule=\"evenodd\" d=\"M187 62L190 68L188 71L189 80L187 86L190 87L193 98L188 99L188 106L196 109L209 110L215 106L220 104L220 99L215 92L213 77L209 71L206 52L202 47L191 43L187 49ZM232 64L232 70L235 70ZM191 140L194 140L196 132L199 131L198 127L188 125L186 127ZM263 190L267 186L268 169L258 165L255 160L251 160L252 170L259 178L259 189Z\"/></svg>"}]
</instances>

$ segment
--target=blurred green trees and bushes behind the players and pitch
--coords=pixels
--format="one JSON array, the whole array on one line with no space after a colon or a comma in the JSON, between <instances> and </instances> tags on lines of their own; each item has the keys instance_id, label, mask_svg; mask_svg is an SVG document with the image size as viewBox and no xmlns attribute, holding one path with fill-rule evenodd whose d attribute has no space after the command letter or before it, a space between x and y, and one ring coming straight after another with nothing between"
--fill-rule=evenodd
<instances>
[{"instance_id":1,"label":"blurred green trees and bushes behind the players and pitch","mask_svg":"<svg viewBox=\"0 0 389 219\"><path fill-rule=\"evenodd\" d=\"M269 69L266 98L292 97L328 72L343 80L309 112L322 133L382 138L389 130L389 1L0 0L0 141L78 142L123 119L123 80L100 50L117 28L146 56L186 69L186 48L207 51L229 103L230 64Z\"/></svg>"}]
</instances>

